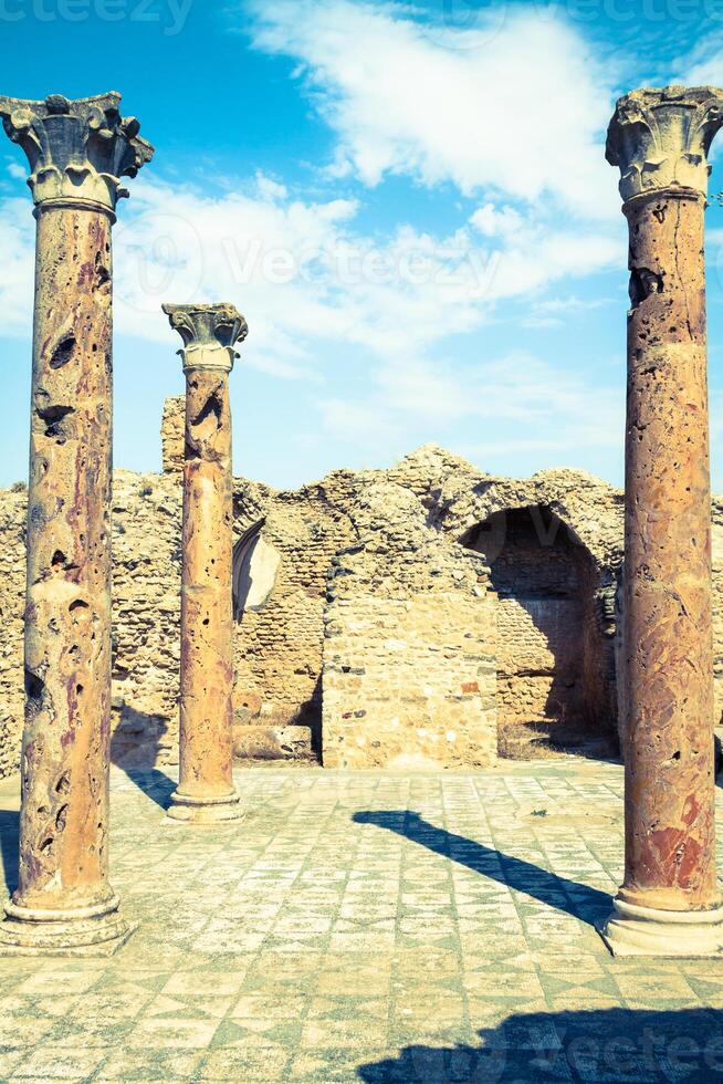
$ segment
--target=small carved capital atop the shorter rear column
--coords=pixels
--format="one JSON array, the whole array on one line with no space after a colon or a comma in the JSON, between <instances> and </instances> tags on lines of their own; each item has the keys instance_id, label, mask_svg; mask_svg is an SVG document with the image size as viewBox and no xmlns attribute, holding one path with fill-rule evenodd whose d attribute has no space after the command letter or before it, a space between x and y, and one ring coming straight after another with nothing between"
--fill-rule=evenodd
<instances>
[{"instance_id":1,"label":"small carved capital atop the shorter rear column","mask_svg":"<svg viewBox=\"0 0 723 1084\"><path fill-rule=\"evenodd\" d=\"M230 373L239 356L233 348L249 334L249 326L234 305L161 305L170 326L184 340L178 351L184 372L222 369Z\"/></svg>"}]
</instances>

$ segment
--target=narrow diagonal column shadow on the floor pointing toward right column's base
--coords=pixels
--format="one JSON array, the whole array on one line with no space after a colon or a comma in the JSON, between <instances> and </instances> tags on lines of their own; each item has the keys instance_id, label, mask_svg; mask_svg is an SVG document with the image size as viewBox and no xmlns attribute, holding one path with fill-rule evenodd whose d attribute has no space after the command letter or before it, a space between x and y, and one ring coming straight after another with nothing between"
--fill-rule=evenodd
<instances>
[{"instance_id":1,"label":"narrow diagonal column shadow on the floor pointing toward right column's base","mask_svg":"<svg viewBox=\"0 0 723 1084\"><path fill-rule=\"evenodd\" d=\"M454 835L444 828L425 821L419 813L407 810L389 810L384 812L365 811L355 813L353 820L357 824L376 824L389 832L397 832L412 840L422 847L436 854L451 858L474 873L491 877L502 885L517 892L527 893L543 904L599 926L610 910L610 896L599 888L580 885L559 874L541 869L531 862L515 858L514 855L495 851L483 843L475 843L464 836Z\"/></svg>"}]
</instances>

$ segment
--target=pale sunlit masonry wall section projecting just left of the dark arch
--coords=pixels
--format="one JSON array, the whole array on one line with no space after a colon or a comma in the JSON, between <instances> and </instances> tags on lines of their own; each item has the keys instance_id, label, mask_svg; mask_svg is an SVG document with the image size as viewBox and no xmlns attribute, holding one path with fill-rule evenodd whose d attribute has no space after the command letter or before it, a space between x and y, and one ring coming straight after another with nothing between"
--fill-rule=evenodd
<instances>
[{"instance_id":1,"label":"pale sunlit masonry wall section projecting just left of the dark arch","mask_svg":"<svg viewBox=\"0 0 723 1084\"><path fill-rule=\"evenodd\" d=\"M324 764L490 764L497 743L495 600L486 567L430 532L412 493L390 489L366 490L357 507L360 539L332 564Z\"/></svg>"}]
</instances>

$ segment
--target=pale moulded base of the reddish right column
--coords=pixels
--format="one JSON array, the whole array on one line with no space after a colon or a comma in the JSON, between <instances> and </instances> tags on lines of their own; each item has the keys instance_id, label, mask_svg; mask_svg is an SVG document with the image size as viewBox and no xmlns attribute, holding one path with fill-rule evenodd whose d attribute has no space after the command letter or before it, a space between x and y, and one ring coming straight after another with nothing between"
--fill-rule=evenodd
<instances>
[{"instance_id":1,"label":"pale moulded base of the reddish right column","mask_svg":"<svg viewBox=\"0 0 723 1084\"><path fill-rule=\"evenodd\" d=\"M723 906L658 910L616 898L599 934L612 956L723 956Z\"/></svg>"}]
</instances>

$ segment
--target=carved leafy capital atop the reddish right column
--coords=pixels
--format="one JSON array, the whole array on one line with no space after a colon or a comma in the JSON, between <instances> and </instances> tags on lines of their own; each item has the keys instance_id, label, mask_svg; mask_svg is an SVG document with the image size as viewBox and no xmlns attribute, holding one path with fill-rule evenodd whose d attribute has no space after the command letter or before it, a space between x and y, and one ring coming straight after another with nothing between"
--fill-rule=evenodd
<instances>
[{"instance_id":1,"label":"carved leafy capital atop the reddish right column","mask_svg":"<svg viewBox=\"0 0 723 1084\"><path fill-rule=\"evenodd\" d=\"M713 86L640 90L618 101L606 157L620 167L624 200L663 189L708 195L708 152L723 125L723 91Z\"/></svg>"}]
</instances>

